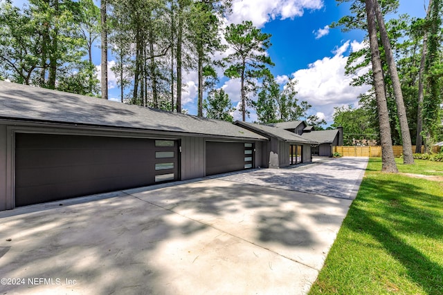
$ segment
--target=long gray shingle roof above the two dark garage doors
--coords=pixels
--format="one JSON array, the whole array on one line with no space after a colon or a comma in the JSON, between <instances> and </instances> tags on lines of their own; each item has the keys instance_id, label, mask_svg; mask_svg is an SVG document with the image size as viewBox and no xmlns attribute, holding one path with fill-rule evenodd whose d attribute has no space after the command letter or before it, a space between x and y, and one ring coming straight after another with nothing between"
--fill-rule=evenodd
<instances>
[{"instance_id":1,"label":"long gray shingle roof above the two dark garage doors","mask_svg":"<svg viewBox=\"0 0 443 295\"><path fill-rule=\"evenodd\" d=\"M2 81L0 119L266 140L229 122Z\"/></svg>"}]
</instances>

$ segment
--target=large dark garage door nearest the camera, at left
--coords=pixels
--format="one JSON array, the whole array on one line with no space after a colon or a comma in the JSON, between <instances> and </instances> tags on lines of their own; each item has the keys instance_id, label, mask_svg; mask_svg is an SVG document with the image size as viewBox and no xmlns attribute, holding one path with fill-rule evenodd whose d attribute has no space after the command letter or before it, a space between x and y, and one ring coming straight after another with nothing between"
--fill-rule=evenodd
<instances>
[{"instance_id":1,"label":"large dark garage door nearest the camera, at left","mask_svg":"<svg viewBox=\"0 0 443 295\"><path fill-rule=\"evenodd\" d=\"M179 179L178 142L82 135L15 135L15 206Z\"/></svg>"}]
</instances>

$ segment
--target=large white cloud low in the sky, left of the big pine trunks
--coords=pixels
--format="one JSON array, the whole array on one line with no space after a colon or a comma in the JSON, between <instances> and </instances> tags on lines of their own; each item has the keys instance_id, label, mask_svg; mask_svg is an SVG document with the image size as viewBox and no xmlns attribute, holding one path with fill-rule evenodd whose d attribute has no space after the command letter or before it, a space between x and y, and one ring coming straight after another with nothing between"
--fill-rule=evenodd
<instances>
[{"instance_id":1,"label":"large white cloud low in the sky, left of the big pine trunks","mask_svg":"<svg viewBox=\"0 0 443 295\"><path fill-rule=\"evenodd\" d=\"M354 42L353 42L354 44ZM354 44L352 48L358 48ZM333 57L324 57L308 68L297 70L293 79L298 81L296 91L299 101L306 100L313 106L313 111L322 113L325 120L332 120L334 106L347 104L358 105L358 96L370 90L370 86L350 86L354 75L345 75L348 57L344 54L350 49L350 41L336 48ZM368 70L368 69L365 69Z\"/></svg>"}]
</instances>

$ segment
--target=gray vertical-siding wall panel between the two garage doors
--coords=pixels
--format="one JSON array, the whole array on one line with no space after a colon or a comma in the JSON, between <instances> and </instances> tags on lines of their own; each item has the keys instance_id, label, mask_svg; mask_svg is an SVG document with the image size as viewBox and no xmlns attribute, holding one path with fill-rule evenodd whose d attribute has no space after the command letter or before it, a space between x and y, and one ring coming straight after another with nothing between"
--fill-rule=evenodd
<instances>
[{"instance_id":1,"label":"gray vertical-siding wall panel between the two garage doors","mask_svg":"<svg viewBox=\"0 0 443 295\"><path fill-rule=\"evenodd\" d=\"M182 137L181 180L205 176L206 146L204 137Z\"/></svg>"}]
</instances>

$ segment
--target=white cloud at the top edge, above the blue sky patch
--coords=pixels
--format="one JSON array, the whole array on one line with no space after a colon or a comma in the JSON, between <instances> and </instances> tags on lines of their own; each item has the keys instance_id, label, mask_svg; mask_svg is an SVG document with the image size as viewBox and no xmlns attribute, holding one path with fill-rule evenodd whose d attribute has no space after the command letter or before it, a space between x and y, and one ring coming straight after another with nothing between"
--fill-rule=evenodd
<instances>
[{"instance_id":1,"label":"white cloud at the top edge, above the blue sky patch","mask_svg":"<svg viewBox=\"0 0 443 295\"><path fill-rule=\"evenodd\" d=\"M305 9L316 10L323 5L323 0L234 0L228 20L230 23L250 20L261 28L273 19L301 17Z\"/></svg>"}]
</instances>

